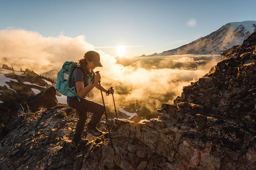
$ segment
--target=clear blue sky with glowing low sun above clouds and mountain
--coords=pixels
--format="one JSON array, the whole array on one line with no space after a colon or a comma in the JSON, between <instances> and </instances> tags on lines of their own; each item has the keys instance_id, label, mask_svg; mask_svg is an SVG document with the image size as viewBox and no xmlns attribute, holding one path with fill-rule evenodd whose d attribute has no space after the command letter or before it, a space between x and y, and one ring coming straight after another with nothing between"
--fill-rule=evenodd
<instances>
[{"instance_id":1,"label":"clear blue sky with glowing low sun above clouds and mountain","mask_svg":"<svg viewBox=\"0 0 256 170\"><path fill-rule=\"evenodd\" d=\"M126 57L173 49L228 22L256 20L255 0L0 0L0 30L44 37L84 35L97 50Z\"/></svg>"}]
</instances>

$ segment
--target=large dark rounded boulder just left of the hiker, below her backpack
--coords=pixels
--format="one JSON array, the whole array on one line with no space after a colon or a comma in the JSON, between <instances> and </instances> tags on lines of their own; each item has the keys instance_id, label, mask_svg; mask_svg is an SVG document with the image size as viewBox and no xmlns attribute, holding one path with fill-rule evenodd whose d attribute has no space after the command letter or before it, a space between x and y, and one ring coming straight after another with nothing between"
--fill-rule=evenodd
<instances>
[{"instance_id":1,"label":"large dark rounded boulder just left of the hiker, below her backpack","mask_svg":"<svg viewBox=\"0 0 256 170\"><path fill-rule=\"evenodd\" d=\"M58 105L58 101L56 99L56 89L54 87L50 87L45 91L40 92L36 96L29 99L27 101L27 105L32 112L36 112L39 107L51 108Z\"/></svg>"}]
</instances>

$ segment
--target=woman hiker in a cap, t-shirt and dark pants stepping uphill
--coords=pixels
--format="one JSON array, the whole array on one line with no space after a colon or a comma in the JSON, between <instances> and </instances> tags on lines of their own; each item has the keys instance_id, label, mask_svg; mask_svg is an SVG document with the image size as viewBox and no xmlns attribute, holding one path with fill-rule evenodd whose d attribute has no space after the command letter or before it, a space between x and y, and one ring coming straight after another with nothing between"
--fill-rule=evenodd
<instances>
[{"instance_id":1,"label":"woman hiker in a cap, t-shirt and dark pants stepping uphill","mask_svg":"<svg viewBox=\"0 0 256 170\"><path fill-rule=\"evenodd\" d=\"M82 141L82 132L84 128L84 124L87 120L87 112L93 113L88 125L87 125L87 132L89 132L91 135L98 137L102 135L102 132L99 131L96 128L97 123L100 121L103 113L104 113L104 107L103 105L93 102L91 100L87 99L87 94L96 87L99 88L99 80L100 80L100 74L94 75L94 80L92 80L93 77L93 69L96 67L102 67L100 63L100 57L99 54L95 51L88 51L84 54L84 57L78 60L78 65L82 66L85 71L86 75L83 75L83 72L76 68L71 76L71 83L70 86L75 86L76 92L78 94L78 97L80 98L80 101L78 101L77 96L70 97L67 96L67 104L71 108L75 109L76 114L78 115L79 119L77 121L74 137L71 142L71 146L75 146L78 144L81 144ZM103 92L113 94L113 90L105 90L103 87L101 87Z\"/></svg>"}]
</instances>

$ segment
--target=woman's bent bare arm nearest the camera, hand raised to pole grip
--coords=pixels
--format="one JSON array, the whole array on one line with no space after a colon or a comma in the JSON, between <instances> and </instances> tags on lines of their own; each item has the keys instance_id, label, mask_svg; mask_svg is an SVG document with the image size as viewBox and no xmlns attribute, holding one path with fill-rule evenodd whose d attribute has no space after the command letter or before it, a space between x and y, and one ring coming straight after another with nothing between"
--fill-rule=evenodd
<instances>
[{"instance_id":1,"label":"woman's bent bare arm nearest the camera, hand raised to pole grip","mask_svg":"<svg viewBox=\"0 0 256 170\"><path fill-rule=\"evenodd\" d=\"M100 75L96 74L94 77L94 82L90 83L87 87L84 88L84 84L81 81L75 82L75 88L78 96L80 98L83 98L86 96L92 89L98 84L98 81L100 80Z\"/></svg>"}]
</instances>

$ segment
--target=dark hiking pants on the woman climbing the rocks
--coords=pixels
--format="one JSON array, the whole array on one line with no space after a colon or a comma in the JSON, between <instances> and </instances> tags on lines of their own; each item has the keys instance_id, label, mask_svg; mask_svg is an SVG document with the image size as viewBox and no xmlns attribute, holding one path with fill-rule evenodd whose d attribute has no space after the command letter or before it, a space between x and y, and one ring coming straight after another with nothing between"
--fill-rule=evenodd
<instances>
[{"instance_id":1,"label":"dark hiking pants on the woman climbing the rocks","mask_svg":"<svg viewBox=\"0 0 256 170\"><path fill-rule=\"evenodd\" d=\"M84 125L87 120L87 112L93 113L87 125L87 128L94 129L97 123L100 121L105 111L104 106L99 103L96 103L87 99L80 99L80 100L81 100L80 102L78 101L78 99L67 100L68 106L75 109L76 114L79 117L75 127L74 138L73 138L74 142L78 142L81 140Z\"/></svg>"}]
</instances>

